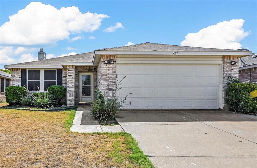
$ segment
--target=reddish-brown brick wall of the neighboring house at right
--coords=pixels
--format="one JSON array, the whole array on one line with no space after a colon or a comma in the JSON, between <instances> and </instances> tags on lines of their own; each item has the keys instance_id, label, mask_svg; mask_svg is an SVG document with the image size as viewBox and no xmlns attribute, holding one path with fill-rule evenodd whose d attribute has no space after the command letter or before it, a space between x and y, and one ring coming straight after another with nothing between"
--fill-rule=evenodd
<instances>
[{"instance_id":1,"label":"reddish-brown brick wall of the neighboring house at right","mask_svg":"<svg viewBox=\"0 0 257 168\"><path fill-rule=\"evenodd\" d=\"M239 81L257 84L257 67L239 70Z\"/></svg>"}]
</instances>

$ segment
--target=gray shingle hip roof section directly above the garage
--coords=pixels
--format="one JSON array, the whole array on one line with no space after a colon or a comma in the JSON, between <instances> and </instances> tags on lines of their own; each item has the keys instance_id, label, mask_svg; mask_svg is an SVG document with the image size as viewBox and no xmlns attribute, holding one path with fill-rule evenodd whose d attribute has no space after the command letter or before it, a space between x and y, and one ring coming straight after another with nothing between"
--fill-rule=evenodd
<instances>
[{"instance_id":1,"label":"gray shingle hip roof section directly above the garage","mask_svg":"<svg viewBox=\"0 0 257 168\"><path fill-rule=\"evenodd\" d=\"M238 51L228 49L201 48L180 45L158 44L158 43L141 43L130 46L98 49L101 51ZM97 51L97 50L96 50Z\"/></svg>"}]
</instances>

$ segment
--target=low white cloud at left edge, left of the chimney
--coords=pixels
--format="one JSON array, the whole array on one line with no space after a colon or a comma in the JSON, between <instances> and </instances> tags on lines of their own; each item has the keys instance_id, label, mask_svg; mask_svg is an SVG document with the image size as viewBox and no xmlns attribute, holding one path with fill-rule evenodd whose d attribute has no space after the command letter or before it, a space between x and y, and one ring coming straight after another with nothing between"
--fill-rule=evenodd
<instances>
[{"instance_id":1,"label":"low white cloud at left edge, left of the chimney","mask_svg":"<svg viewBox=\"0 0 257 168\"><path fill-rule=\"evenodd\" d=\"M17 57L20 54L24 54L26 52L33 52L36 48L24 48L17 47L16 49L13 46L3 47L0 50L0 63L2 64L13 64L19 60L16 60L14 57ZM28 61L26 61L28 62Z\"/></svg>"}]
</instances>

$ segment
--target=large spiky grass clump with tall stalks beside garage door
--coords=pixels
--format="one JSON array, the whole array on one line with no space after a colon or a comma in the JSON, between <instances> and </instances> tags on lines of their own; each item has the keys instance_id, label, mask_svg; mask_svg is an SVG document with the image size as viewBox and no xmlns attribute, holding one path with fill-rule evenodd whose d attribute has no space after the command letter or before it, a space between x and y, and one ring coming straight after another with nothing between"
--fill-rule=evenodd
<instances>
[{"instance_id":1,"label":"large spiky grass clump with tall stalks beside garage door","mask_svg":"<svg viewBox=\"0 0 257 168\"><path fill-rule=\"evenodd\" d=\"M123 77L122 80L124 78L125 77ZM97 119L100 123L105 123L108 120L115 119L117 113L122 109L127 96L125 98L120 98L118 95L116 95L116 92L121 89L119 88L119 86L122 84L121 81L118 82L118 85L116 85L116 89L111 98L105 99L101 91L95 90L96 97L94 102L91 104L91 112L94 119Z\"/></svg>"}]
</instances>

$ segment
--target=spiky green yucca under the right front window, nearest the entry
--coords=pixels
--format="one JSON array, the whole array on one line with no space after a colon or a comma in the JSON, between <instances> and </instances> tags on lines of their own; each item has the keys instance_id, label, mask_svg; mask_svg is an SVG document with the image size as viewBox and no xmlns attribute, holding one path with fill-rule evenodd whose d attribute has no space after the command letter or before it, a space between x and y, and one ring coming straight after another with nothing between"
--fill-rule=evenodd
<instances>
[{"instance_id":1,"label":"spiky green yucca under the right front window, nearest the entry","mask_svg":"<svg viewBox=\"0 0 257 168\"><path fill-rule=\"evenodd\" d=\"M54 97L48 92L32 95L32 97L34 99L32 105L39 108L50 108L52 105L57 104Z\"/></svg>"}]
</instances>

